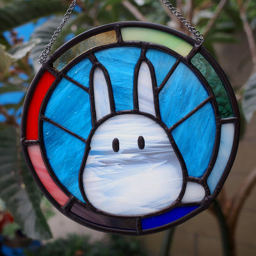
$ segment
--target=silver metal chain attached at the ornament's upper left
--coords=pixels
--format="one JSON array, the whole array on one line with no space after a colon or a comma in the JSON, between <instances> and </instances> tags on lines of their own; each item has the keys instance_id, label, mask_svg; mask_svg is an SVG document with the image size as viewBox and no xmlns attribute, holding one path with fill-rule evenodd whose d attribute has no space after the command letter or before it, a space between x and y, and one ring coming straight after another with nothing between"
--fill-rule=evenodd
<instances>
[{"instance_id":1,"label":"silver metal chain attached at the ornament's upper left","mask_svg":"<svg viewBox=\"0 0 256 256\"><path fill-rule=\"evenodd\" d=\"M54 44L54 42L56 41L56 39L58 38L58 36L60 35L61 29L63 28L64 24L67 22L68 18L70 17L72 11L74 10L76 6L76 0L72 1L72 4L70 4L67 12L64 15L63 20L61 21L60 26L57 28L57 30L53 33L51 40L49 41L49 44L45 45L44 47L44 51L42 52L42 54L40 54L39 56L39 63L40 64L44 64L45 61L47 60L50 52L51 52L51 47Z\"/></svg>"}]
</instances>

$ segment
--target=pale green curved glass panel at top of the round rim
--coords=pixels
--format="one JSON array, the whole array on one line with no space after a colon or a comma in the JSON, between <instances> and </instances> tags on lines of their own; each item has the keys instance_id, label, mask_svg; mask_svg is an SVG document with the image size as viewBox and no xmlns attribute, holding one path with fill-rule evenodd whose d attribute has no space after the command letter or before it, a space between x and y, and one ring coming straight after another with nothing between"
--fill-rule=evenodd
<instances>
[{"instance_id":1,"label":"pale green curved glass panel at top of the round rim","mask_svg":"<svg viewBox=\"0 0 256 256\"><path fill-rule=\"evenodd\" d=\"M122 28L121 35L124 41L144 41L164 45L181 56L187 56L193 49L193 45L179 37L155 29Z\"/></svg>"}]
</instances>

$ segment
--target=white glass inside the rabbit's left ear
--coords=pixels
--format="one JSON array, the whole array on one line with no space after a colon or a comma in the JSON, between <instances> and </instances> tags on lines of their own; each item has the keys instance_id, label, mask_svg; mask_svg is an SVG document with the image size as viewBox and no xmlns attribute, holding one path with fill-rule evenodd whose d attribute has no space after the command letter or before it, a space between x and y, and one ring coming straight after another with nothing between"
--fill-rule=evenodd
<instances>
[{"instance_id":1,"label":"white glass inside the rabbit's left ear","mask_svg":"<svg viewBox=\"0 0 256 256\"><path fill-rule=\"evenodd\" d=\"M101 67L93 70L93 96L96 120L111 113L112 92L109 83L106 81L106 74Z\"/></svg>"}]
</instances>

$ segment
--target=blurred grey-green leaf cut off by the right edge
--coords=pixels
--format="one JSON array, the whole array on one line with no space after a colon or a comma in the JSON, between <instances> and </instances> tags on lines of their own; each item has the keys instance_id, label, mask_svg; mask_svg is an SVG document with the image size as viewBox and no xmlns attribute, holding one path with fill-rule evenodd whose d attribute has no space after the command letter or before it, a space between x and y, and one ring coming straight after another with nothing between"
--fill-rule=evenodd
<instances>
[{"instance_id":1,"label":"blurred grey-green leaf cut off by the right edge","mask_svg":"<svg viewBox=\"0 0 256 256\"><path fill-rule=\"evenodd\" d=\"M256 72L253 73L245 84L243 111L247 122L252 120L256 111Z\"/></svg>"}]
</instances>

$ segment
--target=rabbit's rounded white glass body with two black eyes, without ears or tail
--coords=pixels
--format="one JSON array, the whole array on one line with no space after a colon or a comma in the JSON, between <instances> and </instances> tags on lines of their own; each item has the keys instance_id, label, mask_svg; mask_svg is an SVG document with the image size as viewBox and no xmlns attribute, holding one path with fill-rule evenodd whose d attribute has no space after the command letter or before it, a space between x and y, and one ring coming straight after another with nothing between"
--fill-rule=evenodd
<instances>
[{"instance_id":1,"label":"rabbit's rounded white glass body with two black eyes, without ears or tail","mask_svg":"<svg viewBox=\"0 0 256 256\"><path fill-rule=\"evenodd\" d=\"M143 136L145 148L138 147ZM113 139L120 141L114 152ZM142 115L109 118L93 134L84 168L86 197L113 214L146 214L172 204L182 189L182 169L163 127Z\"/></svg>"}]
</instances>

